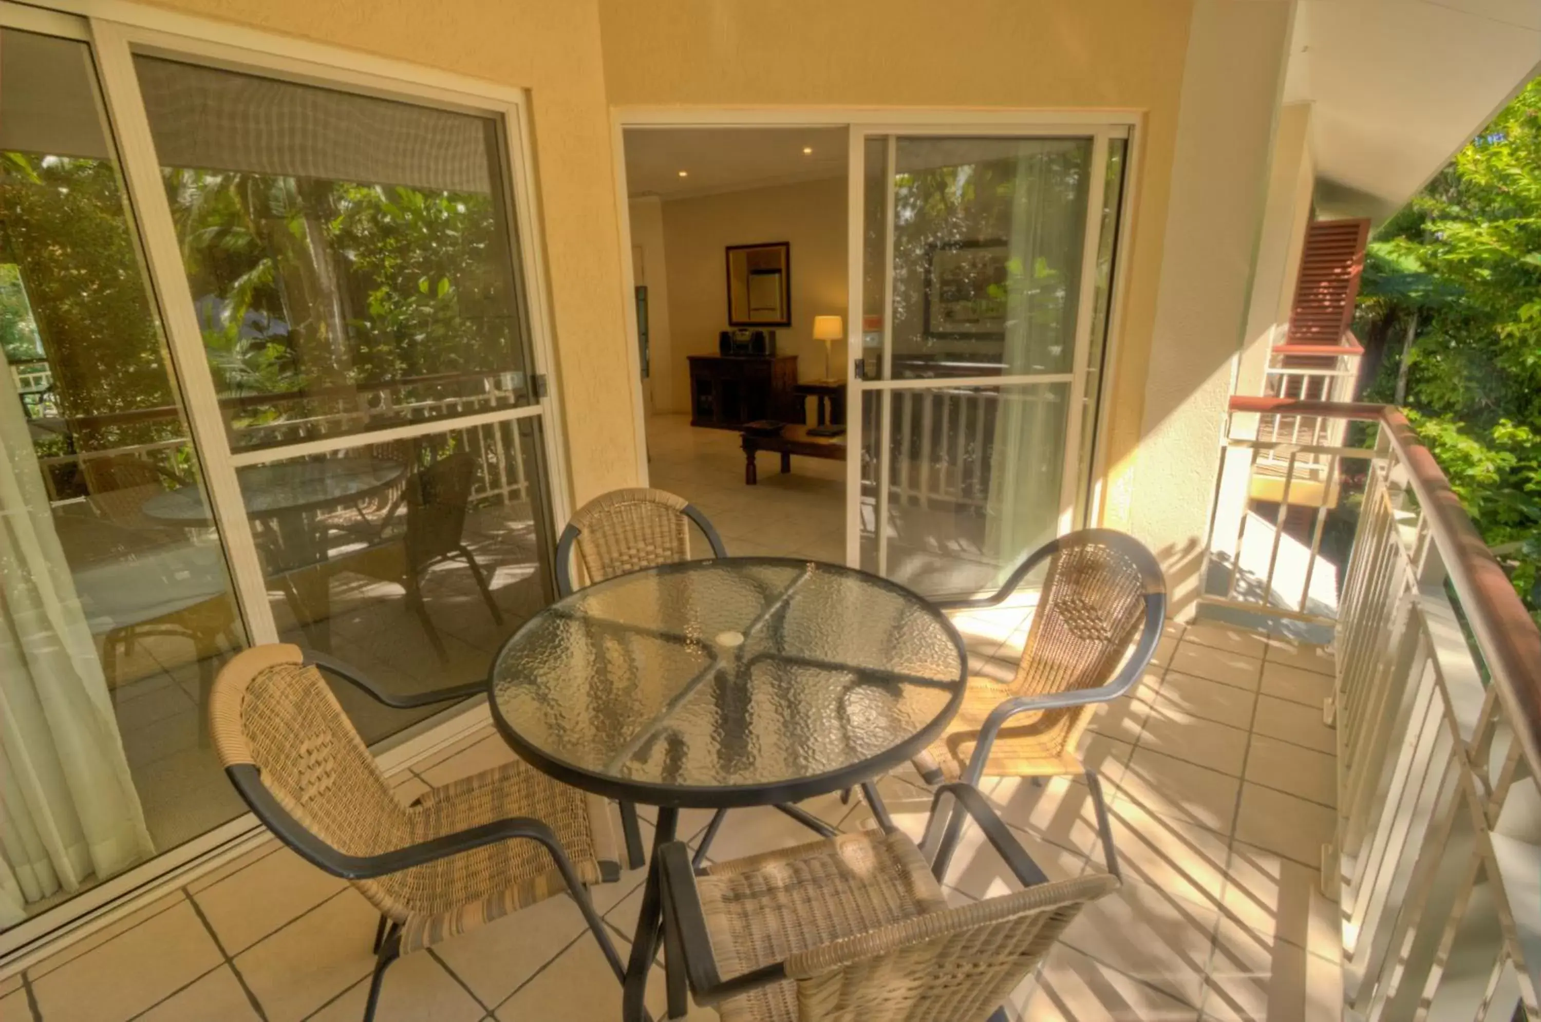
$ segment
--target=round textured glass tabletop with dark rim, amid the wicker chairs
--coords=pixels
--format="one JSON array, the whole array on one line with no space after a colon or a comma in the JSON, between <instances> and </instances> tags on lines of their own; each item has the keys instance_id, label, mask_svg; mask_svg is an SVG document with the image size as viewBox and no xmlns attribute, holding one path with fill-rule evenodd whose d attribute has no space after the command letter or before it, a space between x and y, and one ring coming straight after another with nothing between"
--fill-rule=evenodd
<instances>
[{"instance_id":1,"label":"round textured glass tabletop with dark rim, amid the wicker chairs","mask_svg":"<svg viewBox=\"0 0 1541 1022\"><path fill-rule=\"evenodd\" d=\"M680 808L797 802L942 732L965 689L940 610L849 567L684 561L552 604L493 664L515 751L598 794Z\"/></svg>"}]
</instances>

